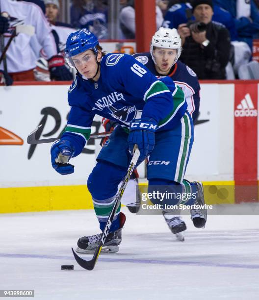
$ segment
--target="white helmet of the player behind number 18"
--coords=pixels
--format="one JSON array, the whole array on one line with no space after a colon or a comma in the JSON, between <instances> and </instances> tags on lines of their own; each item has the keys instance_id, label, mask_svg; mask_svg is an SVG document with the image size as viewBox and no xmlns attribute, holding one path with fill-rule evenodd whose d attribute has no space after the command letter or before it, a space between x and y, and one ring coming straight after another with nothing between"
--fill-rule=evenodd
<instances>
[{"instance_id":1,"label":"white helmet of the player behind number 18","mask_svg":"<svg viewBox=\"0 0 259 300\"><path fill-rule=\"evenodd\" d=\"M166 48L166 49L176 49L177 56L173 64L175 64L181 55L181 37L175 28L163 28L160 27L152 37L150 45L150 53L152 59L155 62L155 57L153 55L154 47Z\"/></svg>"}]
</instances>

